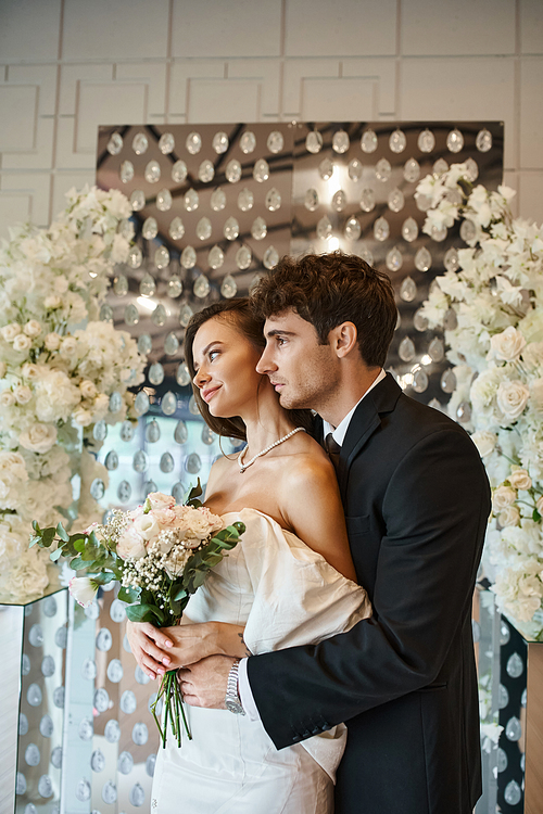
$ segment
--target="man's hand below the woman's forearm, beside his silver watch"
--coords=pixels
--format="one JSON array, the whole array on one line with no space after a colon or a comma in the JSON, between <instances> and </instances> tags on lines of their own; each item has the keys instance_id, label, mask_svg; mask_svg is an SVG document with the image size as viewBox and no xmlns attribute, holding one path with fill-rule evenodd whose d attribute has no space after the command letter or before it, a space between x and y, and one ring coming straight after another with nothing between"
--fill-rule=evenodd
<instances>
[{"instance_id":1,"label":"man's hand below the woman's forearm, beside his silver watch","mask_svg":"<svg viewBox=\"0 0 543 814\"><path fill-rule=\"evenodd\" d=\"M190 667L178 670L182 700L190 707L226 710L226 685L235 661L230 656L209 656Z\"/></svg>"}]
</instances>

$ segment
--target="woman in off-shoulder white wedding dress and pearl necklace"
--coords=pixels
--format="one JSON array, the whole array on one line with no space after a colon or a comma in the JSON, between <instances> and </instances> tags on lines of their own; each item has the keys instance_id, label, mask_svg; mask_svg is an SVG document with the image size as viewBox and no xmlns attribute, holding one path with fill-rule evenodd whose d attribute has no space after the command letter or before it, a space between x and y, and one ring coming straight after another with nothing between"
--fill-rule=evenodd
<instances>
[{"instance_id":1,"label":"woman in off-shoulder white wedding dress and pearl necklace","mask_svg":"<svg viewBox=\"0 0 543 814\"><path fill-rule=\"evenodd\" d=\"M180 626L129 623L132 652L153 678L214 653L316 644L370 614L355 584L333 467L307 432L311 414L281 408L269 379L256 372L264 345L247 298L205 308L187 329L204 420L247 441L239 455L213 465L205 505L247 529L190 599ZM169 737L159 750L152 812L331 814L344 725L278 751L261 722L243 713L186 709L192 740L178 748Z\"/></svg>"}]
</instances>

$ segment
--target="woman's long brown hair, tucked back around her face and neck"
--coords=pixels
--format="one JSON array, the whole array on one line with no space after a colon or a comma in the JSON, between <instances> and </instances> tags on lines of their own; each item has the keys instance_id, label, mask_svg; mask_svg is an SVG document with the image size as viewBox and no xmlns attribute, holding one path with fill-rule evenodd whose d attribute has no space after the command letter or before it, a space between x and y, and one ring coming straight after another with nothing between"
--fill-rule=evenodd
<instances>
[{"instance_id":1,"label":"woman's long brown hair, tucked back around her face and neck","mask_svg":"<svg viewBox=\"0 0 543 814\"><path fill-rule=\"evenodd\" d=\"M249 305L249 297L237 297L236 300L223 300L213 303L207 308L194 314L185 333L185 358L193 380L197 374L192 347L198 330L210 319L220 319L239 330L239 332L257 349L264 351L266 340L264 339L264 319L255 317ZM210 408L200 395L200 390L192 381L192 391L203 420L207 427L217 435L247 441L245 424L239 416L232 418L218 418L212 416ZM303 427L311 432L313 428L313 414L311 410L286 410L294 427Z\"/></svg>"}]
</instances>

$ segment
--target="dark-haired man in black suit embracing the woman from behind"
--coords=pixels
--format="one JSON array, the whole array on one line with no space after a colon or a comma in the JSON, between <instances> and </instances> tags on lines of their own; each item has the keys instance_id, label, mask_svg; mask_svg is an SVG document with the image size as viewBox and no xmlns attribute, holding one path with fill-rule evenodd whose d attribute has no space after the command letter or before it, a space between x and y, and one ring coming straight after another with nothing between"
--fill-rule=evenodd
<instances>
[{"instance_id":1,"label":"dark-haired man in black suit embracing the woman from behind","mask_svg":"<svg viewBox=\"0 0 543 814\"><path fill-rule=\"evenodd\" d=\"M257 370L283 407L323 419L374 615L319 645L243 660L241 703L278 749L346 722L337 814L471 814L470 611L490 512L480 457L458 424L384 374L396 322L386 275L341 253L286 257L253 303L266 319ZM232 661L181 670L186 700L224 708Z\"/></svg>"}]
</instances>

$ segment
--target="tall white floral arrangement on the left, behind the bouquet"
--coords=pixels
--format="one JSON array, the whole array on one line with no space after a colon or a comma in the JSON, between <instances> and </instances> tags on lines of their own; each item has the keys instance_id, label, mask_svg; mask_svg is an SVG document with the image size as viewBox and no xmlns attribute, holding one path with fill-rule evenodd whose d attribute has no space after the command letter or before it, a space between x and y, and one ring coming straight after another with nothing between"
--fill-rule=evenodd
<instances>
[{"instance_id":1,"label":"tall white floral arrangement on the left, behind the bouquet","mask_svg":"<svg viewBox=\"0 0 543 814\"><path fill-rule=\"evenodd\" d=\"M23 599L49 584L31 521L101 517L89 486L106 470L85 442L96 422L129 416L146 364L127 332L98 321L109 274L128 257L130 204L96 187L66 196L49 229L11 229L0 247L0 588Z\"/></svg>"}]
</instances>

